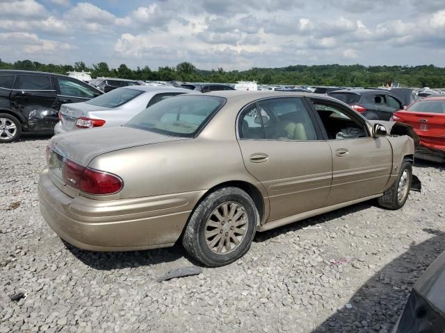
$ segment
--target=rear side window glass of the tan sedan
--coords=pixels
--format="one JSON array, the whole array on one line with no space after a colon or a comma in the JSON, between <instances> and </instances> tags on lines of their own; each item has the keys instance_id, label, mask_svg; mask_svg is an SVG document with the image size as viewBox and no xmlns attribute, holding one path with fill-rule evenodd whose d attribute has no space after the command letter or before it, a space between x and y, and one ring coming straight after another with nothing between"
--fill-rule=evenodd
<instances>
[{"instance_id":1,"label":"rear side window glass of the tan sedan","mask_svg":"<svg viewBox=\"0 0 445 333\"><path fill-rule=\"evenodd\" d=\"M314 123L300 98L259 101L241 114L241 139L305 141L318 139ZM259 130L261 126L261 130Z\"/></svg>"}]
</instances>

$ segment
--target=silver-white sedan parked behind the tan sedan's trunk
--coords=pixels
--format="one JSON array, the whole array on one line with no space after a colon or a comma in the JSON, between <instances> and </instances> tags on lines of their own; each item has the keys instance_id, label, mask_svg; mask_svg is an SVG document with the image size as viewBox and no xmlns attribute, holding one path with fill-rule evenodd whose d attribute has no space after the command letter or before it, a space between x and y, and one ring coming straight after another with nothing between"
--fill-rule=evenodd
<instances>
[{"instance_id":1,"label":"silver-white sedan parked behind the tan sedan's trunk","mask_svg":"<svg viewBox=\"0 0 445 333\"><path fill-rule=\"evenodd\" d=\"M133 85L118 88L83 103L62 105L54 133L82 128L121 126L142 110L171 96L188 94L188 89Z\"/></svg>"}]
</instances>

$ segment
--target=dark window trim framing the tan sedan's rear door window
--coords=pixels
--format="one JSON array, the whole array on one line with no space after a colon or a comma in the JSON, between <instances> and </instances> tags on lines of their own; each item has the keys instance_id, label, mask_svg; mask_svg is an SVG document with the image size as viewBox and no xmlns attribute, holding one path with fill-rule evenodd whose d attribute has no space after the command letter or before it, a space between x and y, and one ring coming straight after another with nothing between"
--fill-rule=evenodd
<instances>
[{"instance_id":1,"label":"dark window trim framing the tan sedan's rear door window","mask_svg":"<svg viewBox=\"0 0 445 333\"><path fill-rule=\"evenodd\" d=\"M264 133L264 139L244 139L241 138L241 115L250 108L251 105L255 104L255 107L257 108L257 112L259 112L259 103L261 101L268 101L269 99L301 99L303 106L305 107L307 114L309 115L309 119L312 121L312 126L314 126L315 134L317 139L315 140L280 140L280 139L268 139L266 135L266 128L264 128L263 123L263 117L261 117L261 114L259 113L259 119L261 121L261 128L263 128ZM236 139L237 140L254 140L254 141L268 141L268 142L320 142L325 140L325 133L320 128L320 124L318 123L318 118L315 117L313 108L309 105L309 103L306 100L307 98L305 96L270 96L262 99L257 99L255 101L251 101L250 103L246 104L241 108L240 111L238 111L238 114L236 115L236 121L235 121L235 130L236 130Z\"/></svg>"}]
</instances>

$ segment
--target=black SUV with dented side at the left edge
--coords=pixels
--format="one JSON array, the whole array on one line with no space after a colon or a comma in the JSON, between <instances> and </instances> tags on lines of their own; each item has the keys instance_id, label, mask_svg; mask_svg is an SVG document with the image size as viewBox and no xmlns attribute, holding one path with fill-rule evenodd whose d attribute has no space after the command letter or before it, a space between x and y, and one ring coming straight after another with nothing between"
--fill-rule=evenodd
<instances>
[{"instance_id":1,"label":"black SUV with dented side at the left edge","mask_svg":"<svg viewBox=\"0 0 445 333\"><path fill-rule=\"evenodd\" d=\"M60 105L88 101L101 94L64 75L0 70L0 143L13 142L22 132L52 134Z\"/></svg>"}]
</instances>

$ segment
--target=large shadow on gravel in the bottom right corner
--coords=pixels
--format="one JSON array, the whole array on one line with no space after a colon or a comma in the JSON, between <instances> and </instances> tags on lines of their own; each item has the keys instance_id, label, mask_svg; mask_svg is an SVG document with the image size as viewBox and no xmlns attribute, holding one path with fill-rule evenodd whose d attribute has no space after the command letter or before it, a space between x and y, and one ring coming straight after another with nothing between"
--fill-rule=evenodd
<instances>
[{"instance_id":1,"label":"large shadow on gravel in the bottom right corner","mask_svg":"<svg viewBox=\"0 0 445 333\"><path fill-rule=\"evenodd\" d=\"M423 231L433 236L423 243L413 243L403 255L375 273L313 333L391 332L412 286L445 250L445 232L431 229Z\"/></svg>"}]
</instances>

